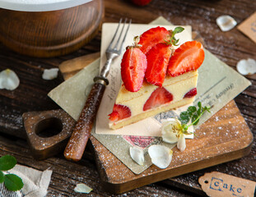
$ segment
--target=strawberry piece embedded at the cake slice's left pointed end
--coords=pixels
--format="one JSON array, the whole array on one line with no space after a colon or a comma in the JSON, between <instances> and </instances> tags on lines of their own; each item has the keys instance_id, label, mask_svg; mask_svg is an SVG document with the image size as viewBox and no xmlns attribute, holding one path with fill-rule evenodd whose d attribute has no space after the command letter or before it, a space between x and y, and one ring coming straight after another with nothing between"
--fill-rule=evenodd
<instances>
[{"instance_id":1,"label":"strawberry piece embedded at the cake slice's left pointed end","mask_svg":"<svg viewBox=\"0 0 256 197\"><path fill-rule=\"evenodd\" d=\"M119 121L127 117L131 117L131 110L127 106L114 103L113 112L109 114L109 120Z\"/></svg>"}]
</instances>

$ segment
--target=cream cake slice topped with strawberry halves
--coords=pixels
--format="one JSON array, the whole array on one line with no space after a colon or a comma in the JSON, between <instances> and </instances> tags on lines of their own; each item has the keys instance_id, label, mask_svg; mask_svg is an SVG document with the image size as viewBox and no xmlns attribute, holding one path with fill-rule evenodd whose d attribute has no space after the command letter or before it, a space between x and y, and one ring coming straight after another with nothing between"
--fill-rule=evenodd
<instances>
[{"instance_id":1,"label":"cream cake slice topped with strawberry halves","mask_svg":"<svg viewBox=\"0 0 256 197\"><path fill-rule=\"evenodd\" d=\"M127 48L121 62L123 84L109 114L109 128L118 129L193 103L204 52L197 41L174 49L179 42L175 34L182 30L152 28Z\"/></svg>"}]
</instances>

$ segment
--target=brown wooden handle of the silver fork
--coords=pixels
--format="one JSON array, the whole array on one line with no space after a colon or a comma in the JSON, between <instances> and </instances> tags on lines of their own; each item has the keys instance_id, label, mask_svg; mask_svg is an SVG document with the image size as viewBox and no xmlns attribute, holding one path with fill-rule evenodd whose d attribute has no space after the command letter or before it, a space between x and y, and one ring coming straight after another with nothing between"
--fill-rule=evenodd
<instances>
[{"instance_id":1,"label":"brown wooden handle of the silver fork","mask_svg":"<svg viewBox=\"0 0 256 197\"><path fill-rule=\"evenodd\" d=\"M91 128L100 107L100 101L104 92L105 84L95 83L92 86L85 107L81 111L81 115L64 151L64 156L68 160L77 162L81 159L81 156L86 149L87 141L91 135Z\"/></svg>"}]
</instances>

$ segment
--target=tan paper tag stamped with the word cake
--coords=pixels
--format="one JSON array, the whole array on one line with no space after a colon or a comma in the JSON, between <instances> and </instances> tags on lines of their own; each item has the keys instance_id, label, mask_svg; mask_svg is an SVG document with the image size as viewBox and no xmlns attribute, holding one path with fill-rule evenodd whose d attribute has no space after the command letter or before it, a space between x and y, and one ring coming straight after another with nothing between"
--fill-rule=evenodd
<instances>
[{"instance_id":1,"label":"tan paper tag stamped with the word cake","mask_svg":"<svg viewBox=\"0 0 256 197\"><path fill-rule=\"evenodd\" d=\"M212 197L253 197L256 182L221 172L206 173L199 178L202 190Z\"/></svg>"}]
</instances>

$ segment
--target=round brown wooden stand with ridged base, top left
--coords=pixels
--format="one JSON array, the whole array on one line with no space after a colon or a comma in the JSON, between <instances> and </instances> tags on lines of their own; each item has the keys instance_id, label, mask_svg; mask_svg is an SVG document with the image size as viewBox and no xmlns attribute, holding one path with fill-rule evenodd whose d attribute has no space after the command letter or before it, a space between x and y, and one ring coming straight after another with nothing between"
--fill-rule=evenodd
<instances>
[{"instance_id":1,"label":"round brown wooden stand with ridged base, top left","mask_svg":"<svg viewBox=\"0 0 256 197\"><path fill-rule=\"evenodd\" d=\"M100 29L103 16L103 0L57 11L0 8L0 41L28 56L61 56L88 43Z\"/></svg>"}]
</instances>

